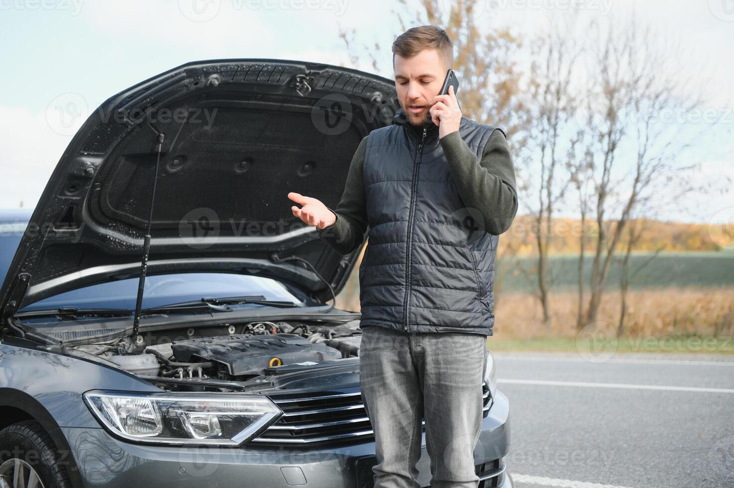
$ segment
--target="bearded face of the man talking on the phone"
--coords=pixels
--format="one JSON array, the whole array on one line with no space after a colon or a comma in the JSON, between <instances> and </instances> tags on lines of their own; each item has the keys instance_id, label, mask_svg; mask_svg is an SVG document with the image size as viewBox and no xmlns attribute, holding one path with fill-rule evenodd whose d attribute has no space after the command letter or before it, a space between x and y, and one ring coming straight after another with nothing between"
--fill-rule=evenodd
<instances>
[{"instance_id":1,"label":"bearded face of the man talking on the phone","mask_svg":"<svg viewBox=\"0 0 734 488\"><path fill-rule=\"evenodd\" d=\"M436 103L448 70L438 51L424 49L410 58L396 54L393 70L398 101L408 122L418 126L431 124L428 110Z\"/></svg>"}]
</instances>

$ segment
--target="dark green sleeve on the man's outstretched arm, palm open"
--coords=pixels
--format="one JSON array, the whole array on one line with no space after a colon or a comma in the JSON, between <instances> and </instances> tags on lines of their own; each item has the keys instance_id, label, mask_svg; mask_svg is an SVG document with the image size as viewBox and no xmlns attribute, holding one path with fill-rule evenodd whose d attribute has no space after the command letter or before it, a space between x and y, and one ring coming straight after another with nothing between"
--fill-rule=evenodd
<instances>
[{"instance_id":1,"label":"dark green sleeve on the man's outstretched arm, palm open","mask_svg":"<svg viewBox=\"0 0 734 488\"><path fill-rule=\"evenodd\" d=\"M367 231L367 211L365 192L362 182L362 168L367 150L367 137L362 139L352 157L349 172L344 183L344 192L335 209L329 208L336 221L323 229L316 227L316 233L330 247L341 255L357 249L365 240Z\"/></svg>"}]
</instances>

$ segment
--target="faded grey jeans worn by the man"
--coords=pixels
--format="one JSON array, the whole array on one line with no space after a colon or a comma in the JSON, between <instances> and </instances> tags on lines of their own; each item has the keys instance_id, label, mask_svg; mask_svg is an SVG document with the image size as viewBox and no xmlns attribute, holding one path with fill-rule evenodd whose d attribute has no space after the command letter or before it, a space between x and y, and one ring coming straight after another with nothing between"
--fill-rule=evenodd
<instances>
[{"instance_id":1,"label":"faded grey jeans worn by the man","mask_svg":"<svg viewBox=\"0 0 734 488\"><path fill-rule=\"evenodd\" d=\"M360 390L374 430L375 488L416 488L421 420L432 488L476 488L487 336L362 330Z\"/></svg>"}]
</instances>

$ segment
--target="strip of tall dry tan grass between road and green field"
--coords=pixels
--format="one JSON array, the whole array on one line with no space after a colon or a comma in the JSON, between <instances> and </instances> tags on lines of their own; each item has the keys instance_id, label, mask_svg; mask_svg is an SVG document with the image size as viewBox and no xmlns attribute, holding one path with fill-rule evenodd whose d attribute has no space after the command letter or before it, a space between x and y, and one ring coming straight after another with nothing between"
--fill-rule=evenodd
<instances>
[{"instance_id":1,"label":"strip of tall dry tan grass between road and green field","mask_svg":"<svg viewBox=\"0 0 734 488\"><path fill-rule=\"evenodd\" d=\"M734 354L734 287L631 291L621 333L620 305L619 292L608 292L598 323L578 329L578 295L554 294L553 320L546 327L534 296L503 294L495 305L495 335L488 344L490 349L574 350L580 332L604 329L614 335L620 351Z\"/></svg>"}]
</instances>

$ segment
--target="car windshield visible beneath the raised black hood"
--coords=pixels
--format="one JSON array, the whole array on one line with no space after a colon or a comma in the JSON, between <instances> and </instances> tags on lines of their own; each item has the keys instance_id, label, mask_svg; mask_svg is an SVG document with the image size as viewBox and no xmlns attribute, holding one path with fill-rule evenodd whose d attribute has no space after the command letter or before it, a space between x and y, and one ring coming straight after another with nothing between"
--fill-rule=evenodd
<instances>
[{"instance_id":1,"label":"car windshield visible beneath the raised black hood","mask_svg":"<svg viewBox=\"0 0 734 488\"><path fill-rule=\"evenodd\" d=\"M134 310L137 287L137 277L99 283L39 300L20 311L58 307ZM232 273L178 273L145 277L142 307L161 307L210 296L264 296L269 301L292 302L300 306L313 305L299 299L285 285L271 278Z\"/></svg>"}]
</instances>

